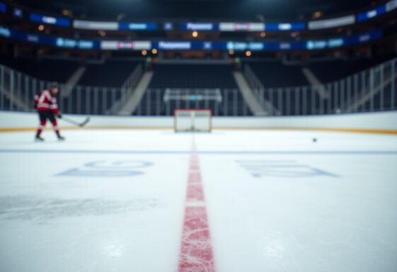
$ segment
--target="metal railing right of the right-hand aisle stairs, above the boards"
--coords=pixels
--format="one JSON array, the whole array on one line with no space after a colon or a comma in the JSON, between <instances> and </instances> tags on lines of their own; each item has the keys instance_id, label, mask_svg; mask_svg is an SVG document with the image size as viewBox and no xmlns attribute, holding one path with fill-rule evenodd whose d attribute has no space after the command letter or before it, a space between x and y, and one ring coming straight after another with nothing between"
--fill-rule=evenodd
<instances>
[{"instance_id":1,"label":"metal railing right of the right-hand aisle stairs, above the boards","mask_svg":"<svg viewBox=\"0 0 397 272\"><path fill-rule=\"evenodd\" d=\"M397 110L397 59L338 81L313 86L265 88L246 65L244 75L270 115L317 115Z\"/></svg>"}]
</instances>

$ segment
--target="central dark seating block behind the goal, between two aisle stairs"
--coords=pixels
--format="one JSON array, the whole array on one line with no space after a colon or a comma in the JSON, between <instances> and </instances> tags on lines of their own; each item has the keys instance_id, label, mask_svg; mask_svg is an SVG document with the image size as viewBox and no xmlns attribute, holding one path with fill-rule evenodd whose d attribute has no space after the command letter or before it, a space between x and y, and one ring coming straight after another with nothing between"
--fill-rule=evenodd
<instances>
[{"instance_id":1,"label":"central dark seating block behind the goal, between two aisle stairs","mask_svg":"<svg viewBox=\"0 0 397 272\"><path fill-rule=\"evenodd\" d=\"M219 89L222 101L158 101L166 89ZM154 99L156 98L156 99ZM134 115L172 115L177 108L208 108L214 115L249 115L229 64L158 64Z\"/></svg>"}]
</instances>

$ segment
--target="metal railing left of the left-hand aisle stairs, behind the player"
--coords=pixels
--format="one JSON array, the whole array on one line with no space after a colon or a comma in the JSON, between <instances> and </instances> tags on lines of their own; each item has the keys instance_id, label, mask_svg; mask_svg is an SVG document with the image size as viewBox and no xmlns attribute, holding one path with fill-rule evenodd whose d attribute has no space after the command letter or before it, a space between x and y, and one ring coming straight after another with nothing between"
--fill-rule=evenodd
<instances>
[{"instance_id":1,"label":"metal railing left of the left-hand aisle stairs, behind the player","mask_svg":"<svg viewBox=\"0 0 397 272\"><path fill-rule=\"evenodd\" d=\"M59 83L58 105L64 113L116 115L115 105L122 103L142 77L142 65L130 75L122 87L104 86L68 86ZM31 77L23 72L0 65L0 110L34 111L33 97L47 89L54 81L45 81Z\"/></svg>"}]
</instances>

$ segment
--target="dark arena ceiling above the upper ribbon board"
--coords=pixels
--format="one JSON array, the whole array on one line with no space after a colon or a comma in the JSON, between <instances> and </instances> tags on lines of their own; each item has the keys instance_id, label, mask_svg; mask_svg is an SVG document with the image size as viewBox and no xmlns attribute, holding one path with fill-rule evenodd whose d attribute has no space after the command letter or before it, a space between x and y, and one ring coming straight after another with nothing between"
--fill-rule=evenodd
<instances>
[{"instance_id":1,"label":"dark arena ceiling above the upper ribbon board","mask_svg":"<svg viewBox=\"0 0 397 272\"><path fill-rule=\"evenodd\" d=\"M73 11L76 18L115 20L133 18L234 18L294 20L315 11L332 16L372 6L374 0L18 0L40 11Z\"/></svg>"}]
</instances>

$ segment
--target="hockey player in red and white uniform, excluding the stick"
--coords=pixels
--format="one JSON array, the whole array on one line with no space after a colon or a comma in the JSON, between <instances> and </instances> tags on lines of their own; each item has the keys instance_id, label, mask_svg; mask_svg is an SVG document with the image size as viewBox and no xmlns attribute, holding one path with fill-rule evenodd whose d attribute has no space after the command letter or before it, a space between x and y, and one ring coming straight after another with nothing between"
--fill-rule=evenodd
<instances>
[{"instance_id":1,"label":"hockey player in red and white uniform, excluding the stick","mask_svg":"<svg viewBox=\"0 0 397 272\"><path fill-rule=\"evenodd\" d=\"M45 128L47 119L51 121L58 140L65 140L65 138L59 133L57 119L55 118L55 116L62 118L62 113L58 110L57 98L55 98L58 91L58 86L52 85L50 86L50 89L41 91L40 94L35 96L35 108L37 109L40 118L40 125L35 137L36 141L44 141L40 135L42 130Z\"/></svg>"}]
</instances>

